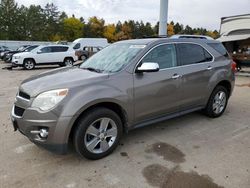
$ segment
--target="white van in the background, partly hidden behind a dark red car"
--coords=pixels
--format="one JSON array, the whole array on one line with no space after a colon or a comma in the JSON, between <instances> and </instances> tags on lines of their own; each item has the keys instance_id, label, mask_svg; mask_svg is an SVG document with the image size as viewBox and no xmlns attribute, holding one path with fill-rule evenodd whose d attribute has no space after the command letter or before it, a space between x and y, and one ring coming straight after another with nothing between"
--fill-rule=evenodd
<instances>
[{"instance_id":1,"label":"white van in the background, partly hidden behind a dark red car","mask_svg":"<svg viewBox=\"0 0 250 188\"><path fill-rule=\"evenodd\" d=\"M105 48L109 45L109 43L106 38L79 38L76 39L71 45L74 50L83 50L86 46Z\"/></svg>"}]
</instances>

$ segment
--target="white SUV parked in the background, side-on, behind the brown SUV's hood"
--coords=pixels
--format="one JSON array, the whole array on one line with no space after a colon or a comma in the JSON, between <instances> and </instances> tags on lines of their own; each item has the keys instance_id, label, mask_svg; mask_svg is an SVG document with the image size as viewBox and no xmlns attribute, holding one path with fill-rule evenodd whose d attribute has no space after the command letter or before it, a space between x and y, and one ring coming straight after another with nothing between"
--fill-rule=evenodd
<instances>
[{"instance_id":1,"label":"white SUV parked in the background, side-on, behind the brown SUV's hood","mask_svg":"<svg viewBox=\"0 0 250 188\"><path fill-rule=\"evenodd\" d=\"M72 47L66 45L39 46L30 52L13 55L12 65L22 66L24 69L34 69L36 65L58 64L72 66L77 56Z\"/></svg>"}]
</instances>

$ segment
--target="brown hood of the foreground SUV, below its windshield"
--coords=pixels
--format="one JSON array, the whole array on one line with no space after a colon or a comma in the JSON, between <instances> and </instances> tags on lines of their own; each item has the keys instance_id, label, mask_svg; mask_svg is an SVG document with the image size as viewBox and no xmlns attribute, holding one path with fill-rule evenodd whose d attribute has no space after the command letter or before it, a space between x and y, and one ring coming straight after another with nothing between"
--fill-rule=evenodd
<instances>
[{"instance_id":1,"label":"brown hood of the foreground SUV, below its windshield","mask_svg":"<svg viewBox=\"0 0 250 188\"><path fill-rule=\"evenodd\" d=\"M108 74L90 72L77 67L64 67L32 76L24 80L19 89L35 97L49 90L92 85L108 77Z\"/></svg>"}]
</instances>

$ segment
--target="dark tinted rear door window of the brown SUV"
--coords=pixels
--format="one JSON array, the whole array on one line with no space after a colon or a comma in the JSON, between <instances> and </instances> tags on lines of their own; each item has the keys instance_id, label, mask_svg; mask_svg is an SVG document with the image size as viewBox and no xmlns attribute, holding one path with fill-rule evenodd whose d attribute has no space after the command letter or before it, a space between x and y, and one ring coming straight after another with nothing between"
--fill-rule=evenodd
<instances>
[{"instance_id":1,"label":"dark tinted rear door window of the brown SUV","mask_svg":"<svg viewBox=\"0 0 250 188\"><path fill-rule=\"evenodd\" d=\"M212 61L213 57L200 45L177 44L180 65L190 65Z\"/></svg>"}]
</instances>

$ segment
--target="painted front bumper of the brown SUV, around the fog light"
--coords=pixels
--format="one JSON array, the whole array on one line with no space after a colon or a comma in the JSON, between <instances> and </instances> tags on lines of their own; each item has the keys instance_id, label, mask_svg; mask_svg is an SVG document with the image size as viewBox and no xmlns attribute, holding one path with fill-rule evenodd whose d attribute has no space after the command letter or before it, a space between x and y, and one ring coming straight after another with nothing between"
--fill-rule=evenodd
<instances>
[{"instance_id":1,"label":"painted front bumper of the brown SUV, around the fog light","mask_svg":"<svg viewBox=\"0 0 250 188\"><path fill-rule=\"evenodd\" d=\"M30 141L49 151L57 154L67 153L70 117L57 117L53 112L45 115L29 108L24 110L22 116L18 116L15 108L17 108L16 104L11 112L11 121L15 131L18 130ZM47 137L40 136L39 130L41 129L48 131Z\"/></svg>"}]
</instances>

